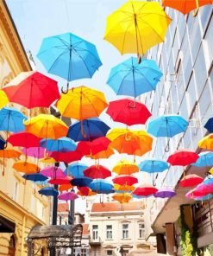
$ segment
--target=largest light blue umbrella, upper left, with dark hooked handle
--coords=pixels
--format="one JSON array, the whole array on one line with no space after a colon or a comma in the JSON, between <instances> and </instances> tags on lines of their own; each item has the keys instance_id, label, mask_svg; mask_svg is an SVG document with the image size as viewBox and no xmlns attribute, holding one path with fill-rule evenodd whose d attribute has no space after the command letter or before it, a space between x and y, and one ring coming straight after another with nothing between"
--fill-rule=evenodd
<instances>
[{"instance_id":1,"label":"largest light blue umbrella, upper left, with dark hooked handle","mask_svg":"<svg viewBox=\"0 0 213 256\"><path fill-rule=\"evenodd\" d=\"M71 33L44 38L37 57L48 73L67 81L91 78L102 65L96 46Z\"/></svg>"}]
</instances>

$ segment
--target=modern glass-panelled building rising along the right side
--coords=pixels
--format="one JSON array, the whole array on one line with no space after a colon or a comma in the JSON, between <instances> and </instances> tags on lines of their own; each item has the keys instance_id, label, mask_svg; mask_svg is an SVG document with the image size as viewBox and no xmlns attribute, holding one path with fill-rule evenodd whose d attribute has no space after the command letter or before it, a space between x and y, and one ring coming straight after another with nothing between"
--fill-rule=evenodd
<instances>
[{"instance_id":1,"label":"modern glass-panelled building rising along the right side","mask_svg":"<svg viewBox=\"0 0 213 256\"><path fill-rule=\"evenodd\" d=\"M166 161L175 150L189 149L200 152L197 142L207 133L204 124L213 116L212 10L212 5L204 6L200 8L198 15L193 17L192 13L184 16L177 10L166 8L166 13L172 17L166 40L151 48L146 56L147 59L157 62L163 72L163 77L156 90L141 96L141 101L152 112L153 118L164 114L179 114L186 120L190 120L190 125L185 133L170 140L168 150L166 149L168 141L165 138L157 138L153 151L147 157ZM195 173L200 176L204 176L206 172L205 168L197 169L187 166L184 169L172 166L169 170L156 175L157 187L176 189L178 195L169 200L149 198L145 209L146 239L157 235L159 246L161 244L161 252L166 233L168 236L171 232L173 233L172 229L175 229L175 240L171 241L166 236L166 251L171 255L181 255L179 208L185 204L189 204L191 208L191 205L195 203L186 200L187 191L179 189L178 182L184 170L185 174ZM212 209L205 207L200 211L203 211L203 214L211 220ZM191 212L195 219L198 218L197 214L201 214L194 210L194 207L191 208ZM201 223L199 225L202 226ZM198 230L197 246L199 248L206 249L206 246L213 244L212 221L209 221L208 225L209 227L205 228L203 233Z\"/></svg>"}]
</instances>

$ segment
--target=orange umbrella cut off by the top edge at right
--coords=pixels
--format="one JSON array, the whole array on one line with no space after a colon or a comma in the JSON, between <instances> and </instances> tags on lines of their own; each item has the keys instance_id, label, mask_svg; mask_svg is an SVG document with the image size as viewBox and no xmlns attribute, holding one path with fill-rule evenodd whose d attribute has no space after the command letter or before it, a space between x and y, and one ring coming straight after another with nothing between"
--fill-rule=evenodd
<instances>
[{"instance_id":1,"label":"orange umbrella cut off by the top edge at right","mask_svg":"<svg viewBox=\"0 0 213 256\"><path fill-rule=\"evenodd\" d=\"M179 0L179 1L171 1L171 0L162 0L163 6L171 7L172 9L179 10L184 15L188 14L191 10L196 10L193 13L193 16L197 16L198 10L201 6L206 4L212 4L212 0Z\"/></svg>"}]
</instances>

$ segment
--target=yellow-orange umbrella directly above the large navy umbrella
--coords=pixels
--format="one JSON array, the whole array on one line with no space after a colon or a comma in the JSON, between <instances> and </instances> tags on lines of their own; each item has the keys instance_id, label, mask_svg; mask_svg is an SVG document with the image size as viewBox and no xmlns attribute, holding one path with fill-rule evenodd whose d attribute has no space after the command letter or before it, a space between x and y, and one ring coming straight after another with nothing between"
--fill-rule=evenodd
<instances>
[{"instance_id":1,"label":"yellow-orange umbrella directly above the large navy umbrella","mask_svg":"<svg viewBox=\"0 0 213 256\"><path fill-rule=\"evenodd\" d=\"M67 94L61 94L56 106L63 117L82 121L98 117L108 104L103 93L79 86L72 88Z\"/></svg>"}]
</instances>

